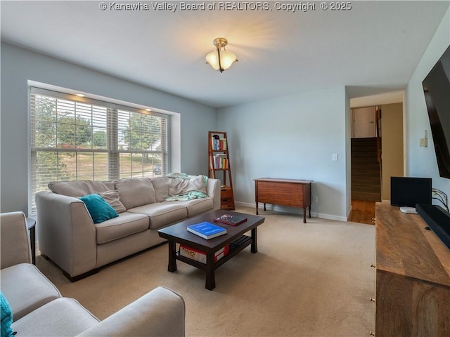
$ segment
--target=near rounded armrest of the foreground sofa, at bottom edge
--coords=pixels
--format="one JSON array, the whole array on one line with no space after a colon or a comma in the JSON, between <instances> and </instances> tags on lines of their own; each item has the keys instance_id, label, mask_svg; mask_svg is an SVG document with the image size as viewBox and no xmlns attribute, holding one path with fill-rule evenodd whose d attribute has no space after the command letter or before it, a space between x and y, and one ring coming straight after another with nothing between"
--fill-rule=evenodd
<instances>
[{"instance_id":1,"label":"near rounded armrest of the foreground sofa, at bottom edge","mask_svg":"<svg viewBox=\"0 0 450 337\"><path fill-rule=\"evenodd\" d=\"M186 305L159 286L78 336L184 336Z\"/></svg>"}]
</instances>

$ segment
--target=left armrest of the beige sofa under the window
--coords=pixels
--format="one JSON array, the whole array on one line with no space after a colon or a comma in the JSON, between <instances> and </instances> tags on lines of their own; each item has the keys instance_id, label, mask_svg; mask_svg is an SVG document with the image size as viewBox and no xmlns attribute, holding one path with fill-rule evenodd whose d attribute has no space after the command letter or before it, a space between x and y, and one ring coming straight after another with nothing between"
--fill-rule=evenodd
<instances>
[{"instance_id":1,"label":"left armrest of the beige sofa under the window","mask_svg":"<svg viewBox=\"0 0 450 337\"><path fill-rule=\"evenodd\" d=\"M39 250L70 277L96 268L96 228L83 201L53 192L38 192Z\"/></svg>"}]
</instances>

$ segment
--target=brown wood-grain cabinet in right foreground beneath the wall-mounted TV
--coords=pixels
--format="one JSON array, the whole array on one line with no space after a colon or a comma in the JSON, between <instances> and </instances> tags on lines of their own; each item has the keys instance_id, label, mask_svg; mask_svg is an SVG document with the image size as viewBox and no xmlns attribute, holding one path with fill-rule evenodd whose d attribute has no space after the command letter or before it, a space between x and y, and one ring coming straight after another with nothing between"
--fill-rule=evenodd
<instances>
[{"instance_id":1,"label":"brown wood-grain cabinet in right foreground beneath the wall-mounted TV","mask_svg":"<svg viewBox=\"0 0 450 337\"><path fill-rule=\"evenodd\" d=\"M418 214L377 203L375 336L450 336L450 251Z\"/></svg>"}]
</instances>

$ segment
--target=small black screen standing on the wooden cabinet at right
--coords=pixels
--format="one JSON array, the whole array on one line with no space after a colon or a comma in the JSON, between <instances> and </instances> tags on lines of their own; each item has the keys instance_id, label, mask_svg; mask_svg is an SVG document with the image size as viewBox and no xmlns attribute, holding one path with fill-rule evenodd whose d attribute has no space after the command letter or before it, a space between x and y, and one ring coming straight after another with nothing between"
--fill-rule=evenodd
<instances>
[{"instance_id":1,"label":"small black screen standing on the wooden cabinet at right","mask_svg":"<svg viewBox=\"0 0 450 337\"><path fill-rule=\"evenodd\" d=\"M416 204L431 205L432 179L413 177L391 177L391 205L416 207Z\"/></svg>"}]
</instances>

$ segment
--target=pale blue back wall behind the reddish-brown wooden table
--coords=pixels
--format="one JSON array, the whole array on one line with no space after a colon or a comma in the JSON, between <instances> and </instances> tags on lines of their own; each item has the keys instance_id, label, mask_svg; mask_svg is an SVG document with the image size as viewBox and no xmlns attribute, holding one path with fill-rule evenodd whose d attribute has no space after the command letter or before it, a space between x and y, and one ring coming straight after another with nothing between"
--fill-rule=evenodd
<instances>
[{"instance_id":1,"label":"pale blue back wall behind the reddish-brown wooden table","mask_svg":"<svg viewBox=\"0 0 450 337\"><path fill-rule=\"evenodd\" d=\"M348 114L343 86L219 109L218 129L229 138L235 201L255 206L255 178L314 180L312 194L319 202L312 212L346 220ZM331 160L333 153L338 161Z\"/></svg>"}]
</instances>

